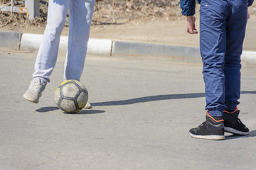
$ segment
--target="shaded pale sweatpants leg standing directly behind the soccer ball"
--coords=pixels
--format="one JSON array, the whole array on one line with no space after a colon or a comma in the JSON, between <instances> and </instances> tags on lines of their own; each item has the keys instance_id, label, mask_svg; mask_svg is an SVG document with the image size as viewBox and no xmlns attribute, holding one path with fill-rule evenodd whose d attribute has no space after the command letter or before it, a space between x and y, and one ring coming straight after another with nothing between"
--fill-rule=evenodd
<instances>
[{"instance_id":1,"label":"shaded pale sweatpants leg standing directly behind the soccer ball","mask_svg":"<svg viewBox=\"0 0 256 170\"><path fill-rule=\"evenodd\" d=\"M87 42L95 0L71 0L68 35L68 52L64 66L64 81L76 79L80 81L85 64Z\"/></svg>"}]
</instances>

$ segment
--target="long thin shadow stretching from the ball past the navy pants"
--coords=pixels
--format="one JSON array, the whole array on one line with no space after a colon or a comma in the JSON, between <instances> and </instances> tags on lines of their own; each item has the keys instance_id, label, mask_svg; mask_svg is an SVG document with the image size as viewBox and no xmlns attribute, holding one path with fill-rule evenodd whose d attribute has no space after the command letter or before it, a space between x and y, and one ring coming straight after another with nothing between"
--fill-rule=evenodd
<instances>
[{"instance_id":1,"label":"long thin shadow stretching from the ball past the navy pants","mask_svg":"<svg viewBox=\"0 0 256 170\"><path fill-rule=\"evenodd\" d=\"M241 91L241 94L256 94L256 91ZM91 106L118 106L118 105L130 105L134 103L144 103L149 101L164 101L171 99L182 99L182 98L201 98L205 97L204 93L196 93L196 94L164 94L164 95L156 95L156 96L146 96L141 98L131 98L127 100L121 101L105 101L99 103L90 103Z\"/></svg>"}]
</instances>

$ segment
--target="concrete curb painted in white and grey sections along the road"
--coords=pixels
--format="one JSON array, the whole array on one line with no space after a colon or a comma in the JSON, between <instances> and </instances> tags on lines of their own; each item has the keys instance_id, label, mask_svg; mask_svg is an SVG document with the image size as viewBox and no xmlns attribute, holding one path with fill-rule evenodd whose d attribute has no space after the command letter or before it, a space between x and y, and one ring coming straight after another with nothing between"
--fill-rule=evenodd
<instances>
[{"instance_id":1,"label":"concrete curb painted in white and grey sections along the road","mask_svg":"<svg viewBox=\"0 0 256 170\"><path fill-rule=\"evenodd\" d=\"M20 50L38 50L43 35L0 32L0 46ZM60 38L60 51L65 52L68 37ZM112 57L164 57L180 62L201 62L198 47L182 47L119 40L94 39L88 41L87 53ZM245 64L256 64L256 52L244 51L241 56Z\"/></svg>"}]
</instances>

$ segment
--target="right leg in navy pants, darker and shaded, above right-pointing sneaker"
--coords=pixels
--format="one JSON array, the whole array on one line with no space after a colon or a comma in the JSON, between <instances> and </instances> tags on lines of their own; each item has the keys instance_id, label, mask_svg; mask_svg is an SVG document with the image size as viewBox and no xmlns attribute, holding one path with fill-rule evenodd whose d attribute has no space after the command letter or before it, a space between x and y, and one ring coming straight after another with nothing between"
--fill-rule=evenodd
<instances>
[{"instance_id":1,"label":"right leg in navy pants, darker and shaded, above right-pointing sneaker","mask_svg":"<svg viewBox=\"0 0 256 170\"><path fill-rule=\"evenodd\" d=\"M247 2L230 1L233 14L227 21L227 51L225 53L225 106L235 111L240 98L240 69L242 43L247 23Z\"/></svg>"}]
</instances>

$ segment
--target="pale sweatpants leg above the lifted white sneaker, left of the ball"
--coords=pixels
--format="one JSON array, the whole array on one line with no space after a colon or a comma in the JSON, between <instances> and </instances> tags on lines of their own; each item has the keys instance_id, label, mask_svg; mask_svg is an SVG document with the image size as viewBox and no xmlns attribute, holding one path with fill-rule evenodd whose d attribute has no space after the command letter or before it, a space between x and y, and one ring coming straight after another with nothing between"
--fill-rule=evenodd
<instances>
[{"instance_id":1,"label":"pale sweatpants leg above the lifted white sneaker, left of the ball","mask_svg":"<svg viewBox=\"0 0 256 170\"><path fill-rule=\"evenodd\" d=\"M70 0L49 1L47 26L38 50L33 77L50 81L48 77L53 72L57 60L60 35L65 26L69 5Z\"/></svg>"}]
</instances>

